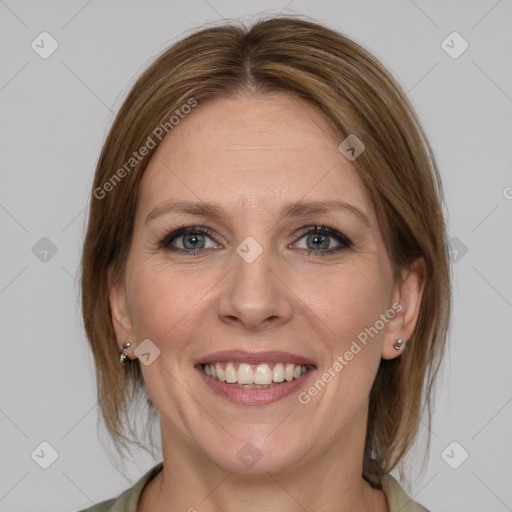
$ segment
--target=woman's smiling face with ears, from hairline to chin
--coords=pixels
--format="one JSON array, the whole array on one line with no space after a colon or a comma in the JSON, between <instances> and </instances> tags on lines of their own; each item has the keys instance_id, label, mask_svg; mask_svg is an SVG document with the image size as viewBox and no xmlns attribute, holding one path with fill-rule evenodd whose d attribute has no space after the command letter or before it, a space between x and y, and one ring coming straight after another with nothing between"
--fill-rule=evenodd
<instances>
[{"instance_id":1,"label":"woman's smiling face with ears, from hairline to chin","mask_svg":"<svg viewBox=\"0 0 512 512\"><path fill-rule=\"evenodd\" d=\"M149 340L136 354L163 443L202 463L266 472L361 457L379 362L411 335L421 287L394 282L340 142L301 100L217 98L147 167L114 327L120 346ZM274 384L238 384L255 378Z\"/></svg>"}]
</instances>

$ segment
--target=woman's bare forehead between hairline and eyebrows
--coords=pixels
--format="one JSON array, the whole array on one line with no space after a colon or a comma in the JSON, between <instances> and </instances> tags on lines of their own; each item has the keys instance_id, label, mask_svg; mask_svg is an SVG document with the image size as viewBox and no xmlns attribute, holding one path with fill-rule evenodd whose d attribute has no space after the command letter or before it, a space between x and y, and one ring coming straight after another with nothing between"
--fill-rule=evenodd
<instances>
[{"instance_id":1,"label":"woman's bare forehead between hairline and eyebrows","mask_svg":"<svg viewBox=\"0 0 512 512\"><path fill-rule=\"evenodd\" d=\"M288 95L199 103L149 162L139 211L183 199L260 212L302 198L335 199L371 220L371 199L340 142L313 106Z\"/></svg>"}]
</instances>

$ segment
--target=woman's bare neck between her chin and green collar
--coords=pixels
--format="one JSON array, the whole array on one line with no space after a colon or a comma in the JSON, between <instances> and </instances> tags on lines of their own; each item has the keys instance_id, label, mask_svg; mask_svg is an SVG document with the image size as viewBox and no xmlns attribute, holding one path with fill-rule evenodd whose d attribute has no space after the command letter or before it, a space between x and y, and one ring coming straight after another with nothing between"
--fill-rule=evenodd
<instances>
[{"instance_id":1,"label":"woman's bare neck between her chin and green collar","mask_svg":"<svg viewBox=\"0 0 512 512\"><path fill-rule=\"evenodd\" d=\"M383 491L362 478L363 448L346 438L285 471L241 474L225 471L162 422L164 466L137 512L389 512Z\"/></svg>"}]
</instances>

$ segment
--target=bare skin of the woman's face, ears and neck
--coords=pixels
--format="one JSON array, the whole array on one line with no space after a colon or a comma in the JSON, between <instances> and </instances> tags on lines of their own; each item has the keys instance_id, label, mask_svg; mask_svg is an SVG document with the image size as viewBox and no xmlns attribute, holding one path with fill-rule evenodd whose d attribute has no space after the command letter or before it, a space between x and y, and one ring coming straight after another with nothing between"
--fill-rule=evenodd
<instances>
[{"instance_id":1,"label":"bare skin of the woman's face, ears and neck","mask_svg":"<svg viewBox=\"0 0 512 512\"><path fill-rule=\"evenodd\" d=\"M303 100L216 98L200 103L152 157L125 278L110 294L119 349L131 341L125 353L134 358L131 349L148 338L160 350L141 367L160 413L164 469L139 511L389 510L361 476L368 395L381 358L399 357L393 344L414 330L425 266L419 259L393 280L372 201L340 142ZM343 200L370 226L348 211L281 218L282 206L299 199ZM145 223L168 200L217 202L228 217L167 213ZM322 223L353 246L328 253L343 244L327 237L328 248L308 256L315 232L301 228ZM215 238L199 233L205 254L158 248L182 225L213 231ZM236 252L248 236L263 248L252 263ZM171 247L187 250L187 241ZM283 350L316 362L307 389L394 303L402 311L307 405L296 393L234 405L194 368L219 350ZM237 457L248 442L261 453L251 468Z\"/></svg>"}]
</instances>

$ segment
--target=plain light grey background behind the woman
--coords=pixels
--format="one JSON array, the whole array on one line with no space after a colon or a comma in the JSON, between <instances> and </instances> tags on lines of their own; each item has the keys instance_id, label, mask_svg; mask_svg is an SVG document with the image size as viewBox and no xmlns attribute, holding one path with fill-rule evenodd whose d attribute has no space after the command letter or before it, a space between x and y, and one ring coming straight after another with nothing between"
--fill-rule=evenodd
<instances>
[{"instance_id":1,"label":"plain light grey background behind the woman","mask_svg":"<svg viewBox=\"0 0 512 512\"><path fill-rule=\"evenodd\" d=\"M444 180L454 315L429 462L415 469L422 426L404 486L432 512L512 510L512 0L0 0L0 511L90 507L155 464L134 451L125 478L98 439L75 282L94 167L156 54L205 22L262 11L352 37L417 109ZM47 59L31 47L43 31L59 45ZM456 59L441 46L453 31L469 43ZM44 441L58 452L48 469L31 457Z\"/></svg>"}]
</instances>

